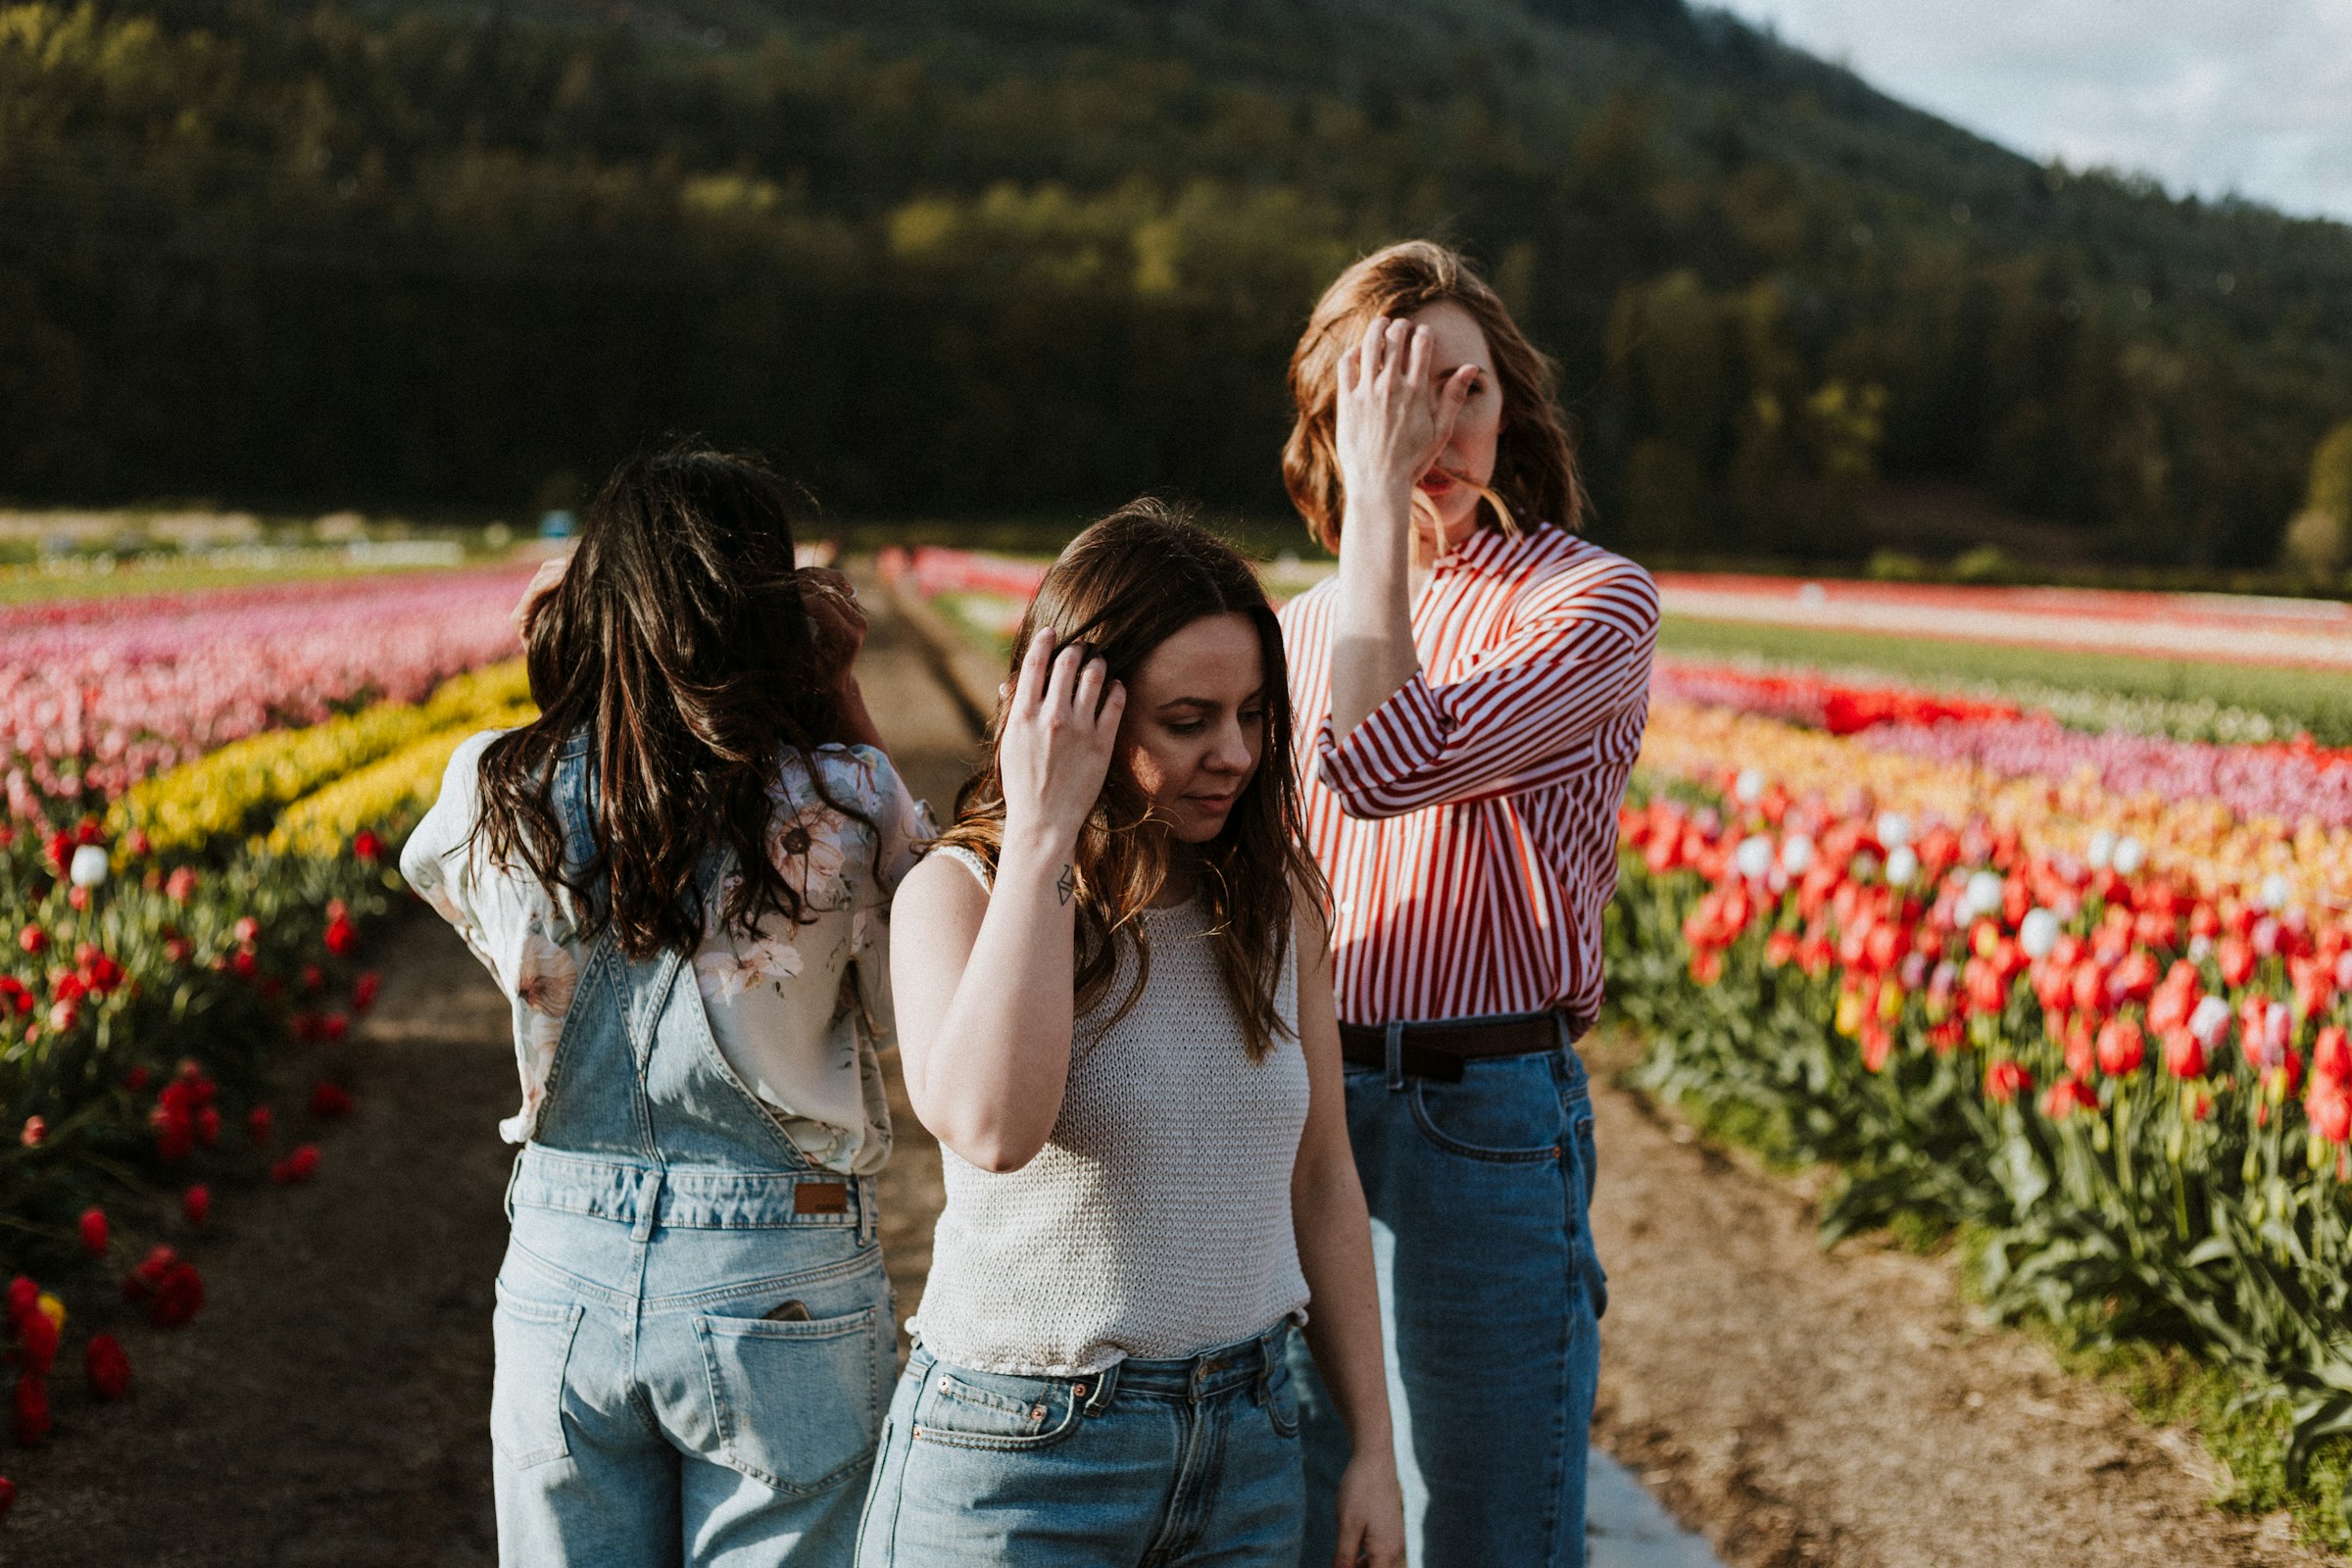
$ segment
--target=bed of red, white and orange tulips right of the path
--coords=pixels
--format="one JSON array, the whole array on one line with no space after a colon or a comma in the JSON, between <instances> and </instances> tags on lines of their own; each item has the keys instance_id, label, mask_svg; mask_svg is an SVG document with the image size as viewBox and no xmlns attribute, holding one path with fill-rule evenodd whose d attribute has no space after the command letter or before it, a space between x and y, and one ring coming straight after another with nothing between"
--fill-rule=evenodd
<instances>
[{"instance_id":1,"label":"bed of red, white and orange tulips right of the path","mask_svg":"<svg viewBox=\"0 0 2352 1568\"><path fill-rule=\"evenodd\" d=\"M1609 912L1644 1081L1842 1166L1830 1234L1973 1222L1994 1307L2239 1368L2291 1467L2352 1432L2336 764L1668 691ZM2312 788L2244 816L2260 769Z\"/></svg>"}]
</instances>

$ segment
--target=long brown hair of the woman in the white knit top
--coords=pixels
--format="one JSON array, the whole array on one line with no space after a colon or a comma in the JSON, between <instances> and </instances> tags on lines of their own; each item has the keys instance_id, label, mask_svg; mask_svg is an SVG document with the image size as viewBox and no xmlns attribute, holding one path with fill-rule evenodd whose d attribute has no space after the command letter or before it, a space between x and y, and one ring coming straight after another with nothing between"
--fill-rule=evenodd
<instances>
[{"instance_id":1,"label":"long brown hair of the woman in the white knit top","mask_svg":"<svg viewBox=\"0 0 2352 1568\"><path fill-rule=\"evenodd\" d=\"M1112 679L1131 682L1152 649L1204 616L1247 616L1258 630L1265 670L1265 745L1216 839L1192 846L1209 905L1216 966L1242 1020L1249 1058L1296 1034L1277 1009L1282 961L1291 943L1291 893L1322 898L1322 877L1301 849L1298 778L1291 764L1291 693L1282 663L1282 625L1265 590L1232 545L1157 501L1134 501L1070 541L1021 618L1007 691L1021 682L1021 656L1040 628L1054 646L1087 642ZM990 755L955 799L955 825L941 844L962 844L990 865L1004 844L1004 780L990 724ZM1098 1004L1117 973L1120 945L1136 954L1136 983L1117 1013L1136 1004L1150 976L1143 910L1169 877L1171 842L1150 825L1143 790L1112 766L1077 839L1077 1011Z\"/></svg>"}]
</instances>

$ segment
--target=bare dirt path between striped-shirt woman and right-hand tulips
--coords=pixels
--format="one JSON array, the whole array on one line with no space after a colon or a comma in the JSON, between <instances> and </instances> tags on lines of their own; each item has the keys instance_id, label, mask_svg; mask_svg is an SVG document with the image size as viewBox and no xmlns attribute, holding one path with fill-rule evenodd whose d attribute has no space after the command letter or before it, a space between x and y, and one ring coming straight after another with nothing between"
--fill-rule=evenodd
<instances>
[{"instance_id":1,"label":"bare dirt path between striped-shirt woman and right-hand tulips","mask_svg":"<svg viewBox=\"0 0 2352 1568\"><path fill-rule=\"evenodd\" d=\"M1733 1568L2343 1561L2284 1514L2213 1509L2192 1439L1971 1324L1950 1260L1867 1239L1825 1255L1792 1185L1621 1088L1595 1091L1595 1436Z\"/></svg>"}]
</instances>

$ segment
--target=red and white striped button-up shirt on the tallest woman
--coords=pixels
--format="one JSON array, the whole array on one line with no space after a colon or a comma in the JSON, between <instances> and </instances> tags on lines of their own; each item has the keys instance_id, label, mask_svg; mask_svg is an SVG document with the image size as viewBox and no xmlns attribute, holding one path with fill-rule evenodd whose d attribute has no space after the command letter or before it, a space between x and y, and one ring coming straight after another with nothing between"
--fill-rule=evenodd
<instances>
[{"instance_id":1,"label":"red and white striped button-up shirt on the tallest woman","mask_svg":"<svg viewBox=\"0 0 2352 1568\"><path fill-rule=\"evenodd\" d=\"M1649 719L1658 588L1557 529L1479 529L1414 604L1421 675L1331 741L1327 581L1282 609L1308 849L1348 1023L1602 1006L1616 811Z\"/></svg>"}]
</instances>

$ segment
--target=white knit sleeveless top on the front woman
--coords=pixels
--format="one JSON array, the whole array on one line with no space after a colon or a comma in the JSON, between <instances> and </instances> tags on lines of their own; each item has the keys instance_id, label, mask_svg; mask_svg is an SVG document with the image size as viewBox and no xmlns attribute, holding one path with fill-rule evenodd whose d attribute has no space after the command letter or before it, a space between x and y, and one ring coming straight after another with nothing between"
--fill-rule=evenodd
<instances>
[{"instance_id":1,"label":"white knit sleeveless top on the front woman","mask_svg":"<svg viewBox=\"0 0 2352 1568\"><path fill-rule=\"evenodd\" d=\"M976 856L941 853L988 884ZM1143 919L1150 980L1110 1023L1136 978L1122 950L1105 1001L1075 1020L1037 1159L1000 1175L941 1150L948 1206L915 1324L941 1361L1077 1378L1305 1321L1291 1234L1305 1053L1277 1039L1249 1060L1197 900ZM1296 943L1277 1006L1296 1034Z\"/></svg>"}]
</instances>

